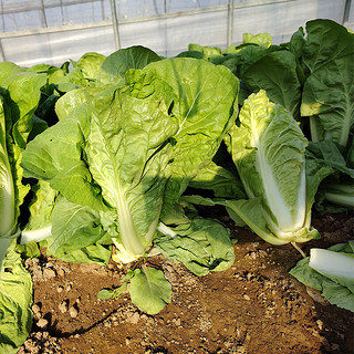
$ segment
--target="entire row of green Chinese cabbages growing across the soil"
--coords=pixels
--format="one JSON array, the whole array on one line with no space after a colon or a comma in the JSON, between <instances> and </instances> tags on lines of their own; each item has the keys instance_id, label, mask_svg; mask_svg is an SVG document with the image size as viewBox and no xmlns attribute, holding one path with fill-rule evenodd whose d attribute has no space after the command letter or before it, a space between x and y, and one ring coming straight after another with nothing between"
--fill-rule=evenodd
<instances>
[{"instance_id":1,"label":"entire row of green Chinese cabbages growing across the soil","mask_svg":"<svg viewBox=\"0 0 354 354\"><path fill-rule=\"evenodd\" d=\"M98 296L129 292L156 314L171 287L148 257L197 275L233 263L230 230L198 206L226 207L272 244L320 238L313 206L354 207L353 83L354 34L330 20L280 45L246 33L238 46L190 44L171 59L132 46L60 67L0 63L0 352L31 331L22 259L39 247L133 264ZM291 273L354 311L354 243L325 252Z\"/></svg>"}]
</instances>

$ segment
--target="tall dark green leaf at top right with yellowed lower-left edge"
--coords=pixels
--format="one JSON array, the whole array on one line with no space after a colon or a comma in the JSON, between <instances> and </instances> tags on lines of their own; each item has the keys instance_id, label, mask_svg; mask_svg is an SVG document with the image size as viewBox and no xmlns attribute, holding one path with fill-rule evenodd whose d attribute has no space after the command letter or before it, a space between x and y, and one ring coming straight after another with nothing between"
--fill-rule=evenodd
<instances>
[{"instance_id":1,"label":"tall dark green leaf at top right with yellowed lower-left edge","mask_svg":"<svg viewBox=\"0 0 354 354\"><path fill-rule=\"evenodd\" d=\"M354 124L354 37L331 20L306 23L302 62L306 82L301 114L316 115L324 133L311 126L312 138L346 146Z\"/></svg>"}]
</instances>

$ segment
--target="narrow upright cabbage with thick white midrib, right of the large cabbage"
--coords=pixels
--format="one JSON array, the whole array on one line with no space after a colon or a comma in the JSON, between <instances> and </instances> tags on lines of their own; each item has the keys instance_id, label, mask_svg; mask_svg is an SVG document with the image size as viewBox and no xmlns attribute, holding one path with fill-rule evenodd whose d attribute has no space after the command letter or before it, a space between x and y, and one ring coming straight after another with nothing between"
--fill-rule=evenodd
<instances>
[{"instance_id":1,"label":"narrow upright cabbage with thick white midrib, right of the large cabbage","mask_svg":"<svg viewBox=\"0 0 354 354\"><path fill-rule=\"evenodd\" d=\"M248 225L273 244L319 238L311 208L331 169L306 165L308 140L291 113L270 102L264 91L251 94L226 142L248 199L183 200L223 205L238 225Z\"/></svg>"}]
</instances>

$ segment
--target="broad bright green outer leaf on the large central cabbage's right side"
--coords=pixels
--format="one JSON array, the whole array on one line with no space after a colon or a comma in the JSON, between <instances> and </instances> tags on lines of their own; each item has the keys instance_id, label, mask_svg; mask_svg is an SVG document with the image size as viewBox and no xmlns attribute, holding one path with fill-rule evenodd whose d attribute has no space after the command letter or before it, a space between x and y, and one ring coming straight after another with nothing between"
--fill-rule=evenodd
<instances>
[{"instance_id":1,"label":"broad bright green outer leaf on the large central cabbage's right side","mask_svg":"<svg viewBox=\"0 0 354 354\"><path fill-rule=\"evenodd\" d=\"M165 198L168 209L218 150L238 111L239 81L223 66L190 58L163 60L144 71L156 73L176 96L171 113L178 131L169 165L175 178L169 181Z\"/></svg>"}]
</instances>

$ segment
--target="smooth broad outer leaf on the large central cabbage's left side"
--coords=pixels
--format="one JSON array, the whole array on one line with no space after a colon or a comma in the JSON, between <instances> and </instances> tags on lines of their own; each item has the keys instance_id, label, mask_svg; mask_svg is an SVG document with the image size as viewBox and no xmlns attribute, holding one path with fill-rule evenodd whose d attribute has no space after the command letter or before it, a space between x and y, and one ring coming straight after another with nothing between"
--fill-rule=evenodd
<instances>
[{"instance_id":1,"label":"smooth broad outer leaf on the large central cabbage's left side","mask_svg":"<svg viewBox=\"0 0 354 354\"><path fill-rule=\"evenodd\" d=\"M105 210L100 187L84 160L83 133L90 132L90 112L84 106L74 117L60 121L29 143L22 158L24 177L48 180L72 202Z\"/></svg>"}]
</instances>

